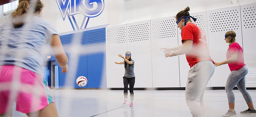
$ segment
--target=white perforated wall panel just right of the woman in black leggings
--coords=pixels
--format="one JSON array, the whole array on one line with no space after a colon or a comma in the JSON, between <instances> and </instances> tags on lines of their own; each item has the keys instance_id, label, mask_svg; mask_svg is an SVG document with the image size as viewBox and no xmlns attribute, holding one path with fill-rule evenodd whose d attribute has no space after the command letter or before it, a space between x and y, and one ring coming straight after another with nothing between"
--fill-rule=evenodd
<instances>
[{"instance_id":1,"label":"white perforated wall panel just right of the woman in black leggings","mask_svg":"<svg viewBox=\"0 0 256 117\"><path fill-rule=\"evenodd\" d=\"M127 24L127 50L135 61L135 86L152 87L150 20Z\"/></svg>"}]
</instances>

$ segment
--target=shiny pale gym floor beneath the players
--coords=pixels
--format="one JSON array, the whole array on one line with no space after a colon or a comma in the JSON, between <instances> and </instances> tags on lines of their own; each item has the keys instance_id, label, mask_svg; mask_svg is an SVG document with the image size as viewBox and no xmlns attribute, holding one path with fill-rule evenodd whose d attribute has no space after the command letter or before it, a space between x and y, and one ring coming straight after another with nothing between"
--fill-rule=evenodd
<instances>
[{"instance_id":1,"label":"shiny pale gym floor beneath the players","mask_svg":"<svg viewBox=\"0 0 256 117\"><path fill-rule=\"evenodd\" d=\"M59 117L192 117L185 101L184 90L134 90L134 107L123 105L122 90L52 89ZM248 107L239 90L236 96L237 117ZM256 91L248 90L256 107ZM128 100L129 100L128 92ZM128 101L130 102L130 101ZM228 110L225 90L206 90L204 94L205 117L221 117ZM27 117L15 110L13 117Z\"/></svg>"}]
</instances>

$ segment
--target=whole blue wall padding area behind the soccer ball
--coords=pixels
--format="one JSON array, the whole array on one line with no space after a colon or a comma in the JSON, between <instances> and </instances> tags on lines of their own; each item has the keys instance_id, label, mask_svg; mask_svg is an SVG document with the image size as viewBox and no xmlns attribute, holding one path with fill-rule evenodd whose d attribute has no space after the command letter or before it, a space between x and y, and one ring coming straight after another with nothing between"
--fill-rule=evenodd
<instances>
[{"instance_id":1,"label":"whole blue wall padding area behind the soccer ball","mask_svg":"<svg viewBox=\"0 0 256 117\"><path fill-rule=\"evenodd\" d=\"M64 51L68 56L68 73L62 73L62 68L59 67L57 60L52 56L51 59L45 61L55 60L55 66L58 67L55 71L55 89L58 88L99 88L106 87L106 35L105 28L96 30L84 31L79 33L61 35L60 40ZM71 45L80 47L79 51L83 52L78 56L77 67L74 68L74 56L70 52ZM98 51L100 49L100 51ZM95 50L97 52L95 52ZM88 53L89 52L89 53ZM75 55L76 56L76 55ZM47 58L47 57L46 57ZM74 58L73 58L74 59ZM88 83L80 87L76 84L76 79L79 76L85 76ZM51 79L50 79L51 80Z\"/></svg>"}]
</instances>

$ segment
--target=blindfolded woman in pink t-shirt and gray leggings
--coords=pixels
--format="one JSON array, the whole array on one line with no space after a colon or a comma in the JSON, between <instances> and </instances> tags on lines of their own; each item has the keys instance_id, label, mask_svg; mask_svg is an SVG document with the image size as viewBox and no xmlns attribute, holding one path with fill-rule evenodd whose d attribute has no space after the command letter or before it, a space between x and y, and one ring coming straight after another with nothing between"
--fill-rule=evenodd
<instances>
[{"instance_id":1,"label":"blindfolded woman in pink t-shirt and gray leggings","mask_svg":"<svg viewBox=\"0 0 256 117\"><path fill-rule=\"evenodd\" d=\"M236 37L236 34L234 31L228 31L225 33L225 41L226 43L229 43L229 47L226 53L227 60L224 60L222 62L215 62L216 67L223 64L228 64L228 67L231 70L231 73L229 74L226 85L225 85L229 110L226 114L223 115L223 117L236 116L236 112L234 110L235 95L232 90L235 87L235 85L238 87L239 91L242 93L243 98L248 105L248 109L245 111L241 111L240 113L256 115L256 111L253 106L251 95L246 90L245 76L248 73L248 69L244 64L243 49L238 43L236 43L235 37Z\"/></svg>"}]
</instances>

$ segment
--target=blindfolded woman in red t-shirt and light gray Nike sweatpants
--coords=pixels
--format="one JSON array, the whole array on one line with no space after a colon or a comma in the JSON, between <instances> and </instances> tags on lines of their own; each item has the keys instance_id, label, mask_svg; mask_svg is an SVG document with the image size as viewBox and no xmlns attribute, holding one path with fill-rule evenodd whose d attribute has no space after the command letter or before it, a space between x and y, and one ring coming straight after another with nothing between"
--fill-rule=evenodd
<instances>
[{"instance_id":1,"label":"blindfolded woman in red t-shirt and light gray Nike sweatpants","mask_svg":"<svg viewBox=\"0 0 256 117\"><path fill-rule=\"evenodd\" d=\"M204 90L214 73L214 61L209 54L205 32L191 23L189 7L180 11L176 16L176 23L181 29L182 45L174 48L161 48L165 57L186 54L190 66L186 83L185 98L193 117L203 117Z\"/></svg>"}]
</instances>

